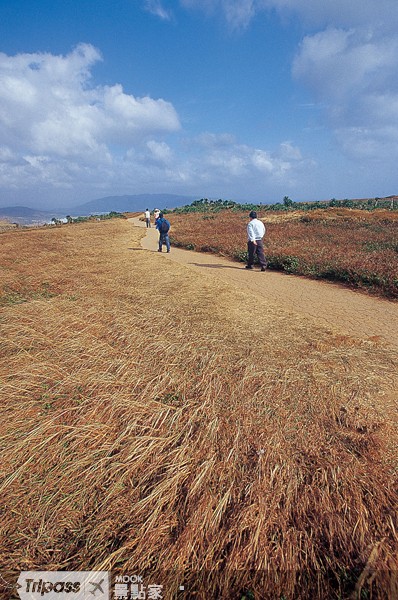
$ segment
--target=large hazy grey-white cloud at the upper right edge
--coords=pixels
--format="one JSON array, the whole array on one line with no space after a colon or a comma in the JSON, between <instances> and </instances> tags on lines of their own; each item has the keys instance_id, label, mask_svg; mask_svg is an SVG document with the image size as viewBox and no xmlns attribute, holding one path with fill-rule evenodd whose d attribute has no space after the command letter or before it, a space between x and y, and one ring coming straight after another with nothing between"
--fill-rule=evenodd
<instances>
[{"instance_id":1,"label":"large hazy grey-white cloud at the upper right edge","mask_svg":"<svg viewBox=\"0 0 398 600\"><path fill-rule=\"evenodd\" d=\"M380 38L369 30L328 29L304 38L293 75L327 106L346 153L391 157L398 133L397 56L398 36Z\"/></svg>"}]
</instances>

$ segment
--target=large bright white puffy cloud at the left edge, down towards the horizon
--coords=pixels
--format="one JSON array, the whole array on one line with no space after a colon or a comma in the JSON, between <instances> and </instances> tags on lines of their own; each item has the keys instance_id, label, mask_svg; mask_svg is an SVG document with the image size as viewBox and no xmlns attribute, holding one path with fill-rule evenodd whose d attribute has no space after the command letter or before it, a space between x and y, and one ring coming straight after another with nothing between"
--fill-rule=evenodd
<instances>
[{"instance_id":1,"label":"large bright white puffy cloud at the left edge, down towards the horizon","mask_svg":"<svg viewBox=\"0 0 398 600\"><path fill-rule=\"evenodd\" d=\"M0 54L1 186L112 179L115 148L145 148L151 136L180 129L171 103L92 85L99 60L89 44L66 56Z\"/></svg>"}]
</instances>

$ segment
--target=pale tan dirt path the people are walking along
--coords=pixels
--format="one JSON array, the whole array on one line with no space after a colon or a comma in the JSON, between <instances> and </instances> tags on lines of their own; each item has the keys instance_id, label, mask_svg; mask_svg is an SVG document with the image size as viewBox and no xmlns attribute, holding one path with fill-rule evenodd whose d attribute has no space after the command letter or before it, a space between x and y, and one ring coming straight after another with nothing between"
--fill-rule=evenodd
<instances>
[{"instance_id":1,"label":"pale tan dirt path the people are walking along","mask_svg":"<svg viewBox=\"0 0 398 600\"><path fill-rule=\"evenodd\" d=\"M129 219L135 226L145 227L138 218ZM141 240L144 249L157 251L158 232L147 229ZM223 257L172 248L165 259L198 269L259 294L287 311L316 319L344 334L361 339L378 339L398 348L398 304L367 296L338 284L313 281L274 271L247 271L243 265Z\"/></svg>"}]
</instances>

